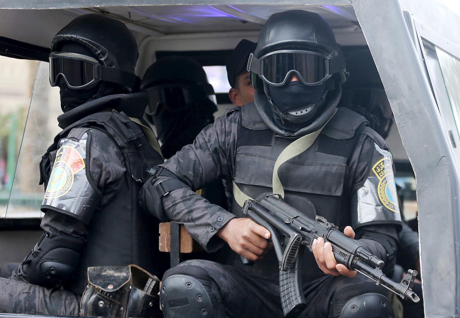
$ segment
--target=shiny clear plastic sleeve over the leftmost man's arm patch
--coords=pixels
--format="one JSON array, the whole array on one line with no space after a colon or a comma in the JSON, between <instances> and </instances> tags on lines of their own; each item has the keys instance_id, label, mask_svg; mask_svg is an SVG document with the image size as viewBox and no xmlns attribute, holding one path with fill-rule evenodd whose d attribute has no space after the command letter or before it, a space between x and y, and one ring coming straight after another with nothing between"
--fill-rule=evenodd
<instances>
[{"instance_id":1,"label":"shiny clear plastic sleeve over the leftmost man's arm patch","mask_svg":"<svg viewBox=\"0 0 460 318\"><path fill-rule=\"evenodd\" d=\"M42 210L56 208L85 223L91 219L99 196L86 176L87 139L84 133L78 141L64 138L59 142Z\"/></svg>"}]
</instances>

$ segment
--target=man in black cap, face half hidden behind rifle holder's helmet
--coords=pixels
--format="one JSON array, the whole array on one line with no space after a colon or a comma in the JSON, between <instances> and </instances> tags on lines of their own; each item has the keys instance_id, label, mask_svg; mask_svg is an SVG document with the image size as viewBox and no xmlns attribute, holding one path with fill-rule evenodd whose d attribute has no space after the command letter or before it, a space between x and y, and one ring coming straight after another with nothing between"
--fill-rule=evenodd
<instances>
[{"instance_id":1,"label":"man in black cap, face half hidden behind rifle holder's helmet","mask_svg":"<svg viewBox=\"0 0 460 318\"><path fill-rule=\"evenodd\" d=\"M249 54L256 49L257 43L243 39L238 43L227 59L227 78L230 83L229 97L233 104L242 106L254 101L254 87L247 71Z\"/></svg>"}]
</instances>

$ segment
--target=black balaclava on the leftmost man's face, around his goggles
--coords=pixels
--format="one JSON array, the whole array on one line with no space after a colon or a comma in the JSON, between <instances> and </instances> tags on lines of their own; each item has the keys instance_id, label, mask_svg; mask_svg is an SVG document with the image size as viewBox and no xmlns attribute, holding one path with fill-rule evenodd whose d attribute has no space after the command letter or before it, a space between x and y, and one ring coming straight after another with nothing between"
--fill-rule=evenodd
<instances>
[{"instance_id":1,"label":"black balaclava on the leftmost man's face, around his goggles","mask_svg":"<svg viewBox=\"0 0 460 318\"><path fill-rule=\"evenodd\" d=\"M63 43L59 51L77 53L96 58L96 56L87 47L75 42ZM99 91L100 82L94 87L90 87L88 89L71 89L67 86L61 76L59 78L58 86L60 88L61 95L61 109L65 113L69 110L73 110L75 107L78 107L83 103L86 103L87 101L94 99Z\"/></svg>"}]
</instances>

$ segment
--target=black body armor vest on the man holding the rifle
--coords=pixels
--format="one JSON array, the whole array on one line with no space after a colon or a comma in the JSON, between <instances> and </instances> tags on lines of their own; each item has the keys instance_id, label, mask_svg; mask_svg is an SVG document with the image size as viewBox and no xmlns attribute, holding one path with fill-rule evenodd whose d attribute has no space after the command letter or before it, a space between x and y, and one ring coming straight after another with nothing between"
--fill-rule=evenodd
<instances>
[{"instance_id":1,"label":"black body armor vest on the man holding the rifle","mask_svg":"<svg viewBox=\"0 0 460 318\"><path fill-rule=\"evenodd\" d=\"M366 123L366 119L357 113L339 108L313 145L279 168L278 176L285 191L284 200L313 219L316 215L325 217L341 230L350 225L348 201L351 181L348 162ZM271 194L276 159L295 139L278 136L270 130L254 104L242 107L234 179L240 190L252 198ZM235 200L231 212L245 217ZM305 281L323 275L316 266L313 254L305 253L304 257ZM243 265L239 257L232 263L257 276L274 280L278 278L273 250L254 266Z\"/></svg>"}]
</instances>

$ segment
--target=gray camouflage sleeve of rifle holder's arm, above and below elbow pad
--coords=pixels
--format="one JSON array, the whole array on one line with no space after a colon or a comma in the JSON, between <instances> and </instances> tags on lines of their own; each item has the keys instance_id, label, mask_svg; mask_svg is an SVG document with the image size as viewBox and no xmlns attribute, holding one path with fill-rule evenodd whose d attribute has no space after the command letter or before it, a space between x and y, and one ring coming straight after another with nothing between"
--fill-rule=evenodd
<instances>
[{"instance_id":1,"label":"gray camouflage sleeve of rifle holder's arm, above and below elbow pad","mask_svg":"<svg viewBox=\"0 0 460 318\"><path fill-rule=\"evenodd\" d=\"M236 216L209 203L195 191L217 179L233 179L240 114L239 111L228 110L205 127L193 144L184 146L161 165L190 187L164 196L164 213L170 220L184 224L191 236L208 252L224 244L215 234ZM156 182L161 178L165 177Z\"/></svg>"}]
</instances>

